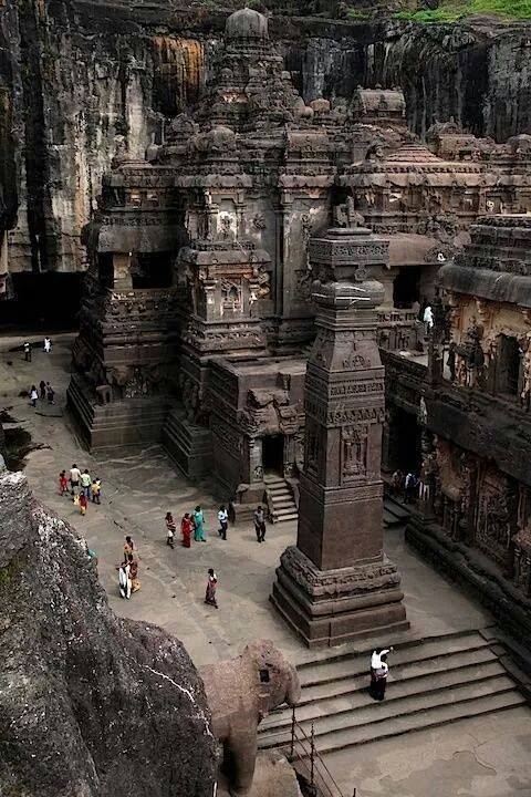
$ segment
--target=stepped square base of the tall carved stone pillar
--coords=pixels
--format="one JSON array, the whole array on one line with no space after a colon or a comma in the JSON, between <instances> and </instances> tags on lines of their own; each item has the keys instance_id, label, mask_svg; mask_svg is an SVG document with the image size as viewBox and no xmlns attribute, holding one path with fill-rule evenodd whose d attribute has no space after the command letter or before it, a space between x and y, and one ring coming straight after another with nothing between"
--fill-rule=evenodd
<instances>
[{"instance_id":1,"label":"stepped square base of the tall carved stone pillar","mask_svg":"<svg viewBox=\"0 0 531 797\"><path fill-rule=\"evenodd\" d=\"M378 562L320 570L296 546L277 568L271 602L309 648L409 628L396 566Z\"/></svg>"}]
</instances>

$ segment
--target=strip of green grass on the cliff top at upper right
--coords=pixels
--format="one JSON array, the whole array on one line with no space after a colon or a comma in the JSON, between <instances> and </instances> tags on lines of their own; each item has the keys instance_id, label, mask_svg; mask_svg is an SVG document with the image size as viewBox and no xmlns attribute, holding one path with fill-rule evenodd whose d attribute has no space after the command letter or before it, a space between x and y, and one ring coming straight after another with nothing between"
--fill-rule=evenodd
<instances>
[{"instance_id":1,"label":"strip of green grass on the cliff top at upper right","mask_svg":"<svg viewBox=\"0 0 531 797\"><path fill-rule=\"evenodd\" d=\"M399 11L395 19L414 22L457 22L466 17L499 17L501 20L531 21L531 0L442 0L438 9Z\"/></svg>"}]
</instances>

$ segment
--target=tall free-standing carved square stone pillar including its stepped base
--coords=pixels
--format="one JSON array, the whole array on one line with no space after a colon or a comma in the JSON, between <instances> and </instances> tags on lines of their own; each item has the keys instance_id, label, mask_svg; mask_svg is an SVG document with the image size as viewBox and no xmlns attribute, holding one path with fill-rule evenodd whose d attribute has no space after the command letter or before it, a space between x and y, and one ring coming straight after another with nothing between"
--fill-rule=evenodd
<instances>
[{"instance_id":1,"label":"tall free-standing carved square stone pillar including its stepped base","mask_svg":"<svg viewBox=\"0 0 531 797\"><path fill-rule=\"evenodd\" d=\"M317 335L308 363L296 546L271 600L310 646L408 628L383 550L384 369L376 342L388 242L364 228L310 242Z\"/></svg>"}]
</instances>

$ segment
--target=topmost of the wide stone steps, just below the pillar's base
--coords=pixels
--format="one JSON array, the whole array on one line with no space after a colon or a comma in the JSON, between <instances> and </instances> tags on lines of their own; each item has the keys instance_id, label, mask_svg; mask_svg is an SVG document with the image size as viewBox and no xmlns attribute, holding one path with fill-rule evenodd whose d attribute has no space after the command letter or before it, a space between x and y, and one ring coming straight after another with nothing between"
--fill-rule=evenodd
<instances>
[{"instance_id":1,"label":"topmost of the wide stone steps, just below the pillar's base","mask_svg":"<svg viewBox=\"0 0 531 797\"><path fill-rule=\"evenodd\" d=\"M489 642L477 631L455 635L433 636L421 644L403 645L389 653L391 670L408 662L423 662L435 658L447 658L455 653L489 649ZM494 654L489 653L493 658ZM367 673L371 650L357 655L345 653L333 659L304 662L298 667L302 686Z\"/></svg>"}]
</instances>

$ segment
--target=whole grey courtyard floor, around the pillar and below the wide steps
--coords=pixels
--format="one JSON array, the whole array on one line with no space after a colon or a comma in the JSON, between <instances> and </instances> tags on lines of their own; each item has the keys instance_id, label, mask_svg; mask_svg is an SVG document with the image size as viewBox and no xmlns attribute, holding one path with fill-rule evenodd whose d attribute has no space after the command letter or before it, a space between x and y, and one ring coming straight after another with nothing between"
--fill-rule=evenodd
<instances>
[{"instance_id":1,"label":"whole grey courtyard floor, around the pillar and below the wide steps","mask_svg":"<svg viewBox=\"0 0 531 797\"><path fill-rule=\"evenodd\" d=\"M32 362L25 363L21 338L0 338L0 410L8 410L13 418L6 428L22 427L33 445L42 445L27 457L29 483L39 500L96 550L100 578L116 613L162 625L185 643L198 665L236 655L257 638L272 639L295 663L325 656L325 651L303 648L269 602L274 569L284 548L295 541L296 524L268 526L264 545L258 545L251 524L238 524L222 541L216 534L218 506L211 486L190 484L160 447L105 459L90 456L64 407L72 341L73 335L58 335L50 355L37 349ZM20 393L42 379L54 386L56 404L39 403L33 410ZM91 505L85 517L58 494L59 473L73 463L102 478L102 505ZM197 504L206 514L208 541L169 549L166 511L180 520ZM131 601L121 600L115 570L125 534L133 536L140 557L142 590ZM400 530L387 532L386 550L402 571L412 623L400 639L492 623L486 611L404 545ZM219 577L218 611L202 602L209 567ZM363 641L358 646L368 644ZM531 712L514 708L337 753L329 756L329 766L345 797L352 795L353 784L358 797L530 797L530 752Z\"/></svg>"}]
</instances>

